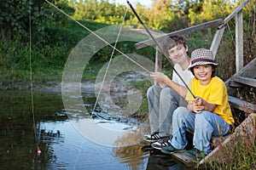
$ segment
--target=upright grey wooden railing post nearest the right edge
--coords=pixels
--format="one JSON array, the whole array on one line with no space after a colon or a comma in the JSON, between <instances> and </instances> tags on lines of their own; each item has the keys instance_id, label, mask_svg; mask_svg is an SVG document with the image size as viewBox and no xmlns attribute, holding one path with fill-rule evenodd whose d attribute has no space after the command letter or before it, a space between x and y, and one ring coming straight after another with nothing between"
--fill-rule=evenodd
<instances>
[{"instance_id":1,"label":"upright grey wooden railing post nearest the right edge","mask_svg":"<svg viewBox=\"0 0 256 170\"><path fill-rule=\"evenodd\" d=\"M236 72L243 67L243 24L242 9L236 14Z\"/></svg>"}]
</instances>

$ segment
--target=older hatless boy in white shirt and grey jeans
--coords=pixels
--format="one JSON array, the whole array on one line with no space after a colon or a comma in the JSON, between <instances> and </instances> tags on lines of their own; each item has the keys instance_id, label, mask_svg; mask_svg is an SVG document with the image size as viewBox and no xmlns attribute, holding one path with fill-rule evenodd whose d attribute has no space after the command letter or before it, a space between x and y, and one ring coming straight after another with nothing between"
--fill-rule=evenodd
<instances>
[{"instance_id":1,"label":"older hatless boy in white shirt and grey jeans","mask_svg":"<svg viewBox=\"0 0 256 170\"><path fill-rule=\"evenodd\" d=\"M183 78L184 82L194 77L188 70L190 58L186 40L180 36L172 36L166 39L164 44L166 54L175 63L174 68ZM152 147L160 149L166 146L166 141L172 134L172 114L178 106L185 106L184 100L186 88L177 73L173 71L172 80L164 73L153 72L150 77L158 82L158 85L148 88L148 111L151 134L145 135L144 139L154 142Z\"/></svg>"}]
</instances>

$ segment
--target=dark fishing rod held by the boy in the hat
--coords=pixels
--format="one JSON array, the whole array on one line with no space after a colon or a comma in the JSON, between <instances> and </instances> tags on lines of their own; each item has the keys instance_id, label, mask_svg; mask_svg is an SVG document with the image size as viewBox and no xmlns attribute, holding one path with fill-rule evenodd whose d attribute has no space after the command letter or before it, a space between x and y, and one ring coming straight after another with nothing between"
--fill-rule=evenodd
<instances>
[{"instance_id":1,"label":"dark fishing rod held by the boy in the hat","mask_svg":"<svg viewBox=\"0 0 256 170\"><path fill-rule=\"evenodd\" d=\"M160 44L155 40L155 38L153 37L153 35L151 34L151 32L148 30L147 26L144 25L143 20L141 20L141 18L139 17L139 15L137 14L136 10L132 7L131 3L127 0L128 5L130 6L133 14L136 15L137 20L139 20L139 22L143 25L143 27L145 28L145 30L148 32L148 35L152 38L152 40L154 41L156 47L160 50L160 53L163 54L168 63L172 66L172 70L175 71L177 73L177 76L181 79L181 81L184 83L185 87L189 90L189 93L192 94L192 96L195 99L195 95L192 93L192 91L190 90L189 86L186 84L186 82L184 82L183 78L179 75L179 73L176 71L176 69L174 68L174 66L172 65L172 61L169 57L166 56L165 51L160 47Z\"/></svg>"}]
</instances>

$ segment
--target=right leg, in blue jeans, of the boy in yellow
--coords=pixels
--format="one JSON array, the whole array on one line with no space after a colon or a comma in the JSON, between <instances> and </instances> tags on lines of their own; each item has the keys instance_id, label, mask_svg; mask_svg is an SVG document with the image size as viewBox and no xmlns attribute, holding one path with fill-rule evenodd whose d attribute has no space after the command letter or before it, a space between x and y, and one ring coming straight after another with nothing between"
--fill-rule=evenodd
<instances>
[{"instance_id":1,"label":"right leg, in blue jeans, of the boy in yellow","mask_svg":"<svg viewBox=\"0 0 256 170\"><path fill-rule=\"evenodd\" d=\"M208 155L212 151L210 145L212 135L225 135L229 133L229 130L230 125L224 122L220 116L210 111L201 111L195 116L193 144L196 149L202 150Z\"/></svg>"}]
</instances>

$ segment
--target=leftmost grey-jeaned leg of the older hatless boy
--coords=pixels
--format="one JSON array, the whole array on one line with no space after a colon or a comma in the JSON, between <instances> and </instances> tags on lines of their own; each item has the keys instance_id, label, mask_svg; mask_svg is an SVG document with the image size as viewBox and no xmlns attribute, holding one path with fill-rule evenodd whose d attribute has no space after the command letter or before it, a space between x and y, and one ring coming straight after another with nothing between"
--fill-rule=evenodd
<instances>
[{"instance_id":1,"label":"leftmost grey-jeaned leg of the older hatless boy","mask_svg":"<svg viewBox=\"0 0 256 170\"><path fill-rule=\"evenodd\" d=\"M160 86L151 86L148 88L148 116L151 133L159 131L159 111L160 111Z\"/></svg>"}]
</instances>

